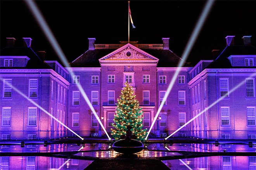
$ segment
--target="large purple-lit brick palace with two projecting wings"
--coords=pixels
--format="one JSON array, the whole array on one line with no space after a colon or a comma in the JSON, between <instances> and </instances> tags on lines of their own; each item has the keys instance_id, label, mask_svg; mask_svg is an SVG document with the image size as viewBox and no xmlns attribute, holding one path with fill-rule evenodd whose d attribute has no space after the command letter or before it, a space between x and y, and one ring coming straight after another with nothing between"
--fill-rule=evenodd
<instances>
[{"instance_id":1,"label":"large purple-lit brick palace with two projecting wings","mask_svg":"<svg viewBox=\"0 0 256 170\"><path fill-rule=\"evenodd\" d=\"M196 117L173 136L256 139L256 48L251 36L242 37L242 45L227 36L224 50L214 50L213 60L195 66L170 50L169 38L163 44L95 44L95 38L88 38L88 50L68 68L45 61L45 52L33 51L32 39L23 39L24 46L17 47L15 38L7 38L1 50L1 139L74 135L42 109L80 136L104 135L77 84L110 132L117 99L129 83L149 129L180 62L184 65L150 136L169 136Z\"/></svg>"}]
</instances>

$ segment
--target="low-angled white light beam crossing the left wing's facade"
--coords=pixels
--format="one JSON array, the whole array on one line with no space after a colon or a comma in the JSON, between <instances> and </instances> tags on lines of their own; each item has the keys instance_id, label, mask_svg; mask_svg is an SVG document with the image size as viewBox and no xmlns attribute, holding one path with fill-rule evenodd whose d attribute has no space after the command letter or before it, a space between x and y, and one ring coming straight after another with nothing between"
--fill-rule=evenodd
<instances>
[{"instance_id":1,"label":"low-angled white light beam crossing the left wing's facade","mask_svg":"<svg viewBox=\"0 0 256 170\"><path fill-rule=\"evenodd\" d=\"M2 77L0 77L0 80L3 82ZM10 85L10 84L9 84ZM15 90L17 93L19 93L21 96L23 96L24 98L26 98L29 102L33 103L36 107L38 107L40 110L42 110L43 112L45 112L46 114L48 114L50 117L52 117L55 121L59 122L60 124L62 124L65 128L67 128L69 131L71 131L72 133L74 133L76 136L78 136L80 139L83 140L83 138L81 136L79 136L78 134L76 134L74 131L72 131L69 127L67 127L65 124L63 124L61 121L59 121L57 118L55 118L54 116L52 116L49 112L47 112L45 109L43 109L43 107L41 107L40 105L38 105L36 102L34 102L33 100L31 100L30 98L28 98L26 95L24 95L21 91L19 91L16 87L14 87L13 85L12 89Z\"/></svg>"}]
</instances>

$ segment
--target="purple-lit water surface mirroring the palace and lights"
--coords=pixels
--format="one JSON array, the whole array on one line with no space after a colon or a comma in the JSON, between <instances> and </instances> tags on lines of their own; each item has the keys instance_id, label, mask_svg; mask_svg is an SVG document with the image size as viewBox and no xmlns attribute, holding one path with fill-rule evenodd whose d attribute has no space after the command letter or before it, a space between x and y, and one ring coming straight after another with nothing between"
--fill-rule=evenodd
<instances>
[{"instance_id":1,"label":"purple-lit water surface mirroring the palace and lights","mask_svg":"<svg viewBox=\"0 0 256 170\"><path fill-rule=\"evenodd\" d=\"M56 152L75 152L74 156L84 157L87 156L97 158L122 158L126 155L116 153L113 150L107 150L109 144L85 144L83 148L76 144L57 144L48 145L10 145L0 146L0 154L4 152L17 152L17 153L56 153ZM162 157L163 163L166 164L171 170L234 170L234 169L256 169L256 154L255 156L209 156L199 158L178 158L175 160L164 160L165 156L175 158L175 156L182 155L176 151L194 151L194 152L255 152L256 148L249 148L248 145L211 145L211 144L147 144L145 150L129 155L129 157L142 158L142 157ZM167 149L168 148L168 149ZM104 150L104 151L100 151ZM159 151L157 151L159 150ZM170 152L170 151L173 152ZM170 158L168 157L168 158ZM0 157L1 170L83 170L90 163L91 160L77 160L70 158L57 158L46 156L1 156Z\"/></svg>"}]
</instances>

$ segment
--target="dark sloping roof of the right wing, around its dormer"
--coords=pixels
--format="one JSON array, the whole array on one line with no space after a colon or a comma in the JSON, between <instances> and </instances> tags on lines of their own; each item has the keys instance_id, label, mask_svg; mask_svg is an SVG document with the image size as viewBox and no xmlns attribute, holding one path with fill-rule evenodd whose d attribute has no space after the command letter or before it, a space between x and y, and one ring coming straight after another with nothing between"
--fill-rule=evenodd
<instances>
[{"instance_id":1,"label":"dark sloping roof of the right wing, around its dormer","mask_svg":"<svg viewBox=\"0 0 256 170\"><path fill-rule=\"evenodd\" d=\"M227 46L223 51L221 51L216 58L214 58L213 63L211 63L207 68L237 68L233 67L228 59L231 55L256 55L256 48L254 46ZM242 67L239 67L242 68ZM250 68L248 66L244 68ZM252 67L255 68L255 67Z\"/></svg>"}]
</instances>

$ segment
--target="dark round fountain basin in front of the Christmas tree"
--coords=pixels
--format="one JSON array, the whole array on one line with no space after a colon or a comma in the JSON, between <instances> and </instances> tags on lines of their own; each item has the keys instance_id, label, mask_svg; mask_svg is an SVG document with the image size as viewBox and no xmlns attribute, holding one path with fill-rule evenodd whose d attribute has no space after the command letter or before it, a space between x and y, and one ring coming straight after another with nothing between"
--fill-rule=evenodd
<instances>
[{"instance_id":1,"label":"dark round fountain basin in front of the Christmas tree","mask_svg":"<svg viewBox=\"0 0 256 170\"><path fill-rule=\"evenodd\" d=\"M140 141L136 141L131 139L130 141L120 140L116 141L113 146L113 150L118 153L125 153L125 154L132 154L138 153L143 150L144 146L143 143Z\"/></svg>"}]
</instances>

